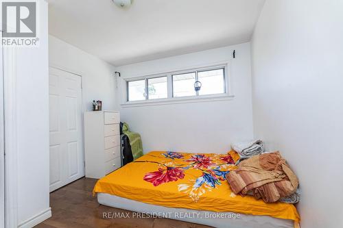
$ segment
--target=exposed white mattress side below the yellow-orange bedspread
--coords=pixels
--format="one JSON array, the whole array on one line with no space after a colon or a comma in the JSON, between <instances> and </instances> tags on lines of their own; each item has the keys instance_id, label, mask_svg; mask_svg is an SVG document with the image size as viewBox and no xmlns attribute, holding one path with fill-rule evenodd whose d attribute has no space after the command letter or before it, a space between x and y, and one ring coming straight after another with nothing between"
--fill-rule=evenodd
<instances>
[{"instance_id":1,"label":"exposed white mattress side below the yellow-orange bedspread","mask_svg":"<svg viewBox=\"0 0 343 228\"><path fill-rule=\"evenodd\" d=\"M132 212L150 214L162 218L182 220L188 223L198 223L218 228L293 228L292 220L272 218L270 216L252 216L248 214L236 214L233 212L209 212L204 210L191 210L185 208L171 208L160 205L152 205L117 197L107 193L97 194L97 201L109 207L121 208ZM110 210L108 210L110 212ZM137 218L141 217L139 214Z\"/></svg>"}]
</instances>

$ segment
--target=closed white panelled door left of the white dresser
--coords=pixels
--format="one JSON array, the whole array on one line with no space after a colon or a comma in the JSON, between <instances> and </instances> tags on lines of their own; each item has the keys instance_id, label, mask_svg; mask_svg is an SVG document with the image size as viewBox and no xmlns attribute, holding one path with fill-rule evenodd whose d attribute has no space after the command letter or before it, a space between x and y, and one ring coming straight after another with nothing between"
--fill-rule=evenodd
<instances>
[{"instance_id":1,"label":"closed white panelled door left of the white dresser","mask_svg":"<svg viewBox=\"0 0 343 228\"><path fill-rule=\"evenodd\" d=\"M84 176L81 77L49 68L50 192Z\"/></svg>"}]
</instances>

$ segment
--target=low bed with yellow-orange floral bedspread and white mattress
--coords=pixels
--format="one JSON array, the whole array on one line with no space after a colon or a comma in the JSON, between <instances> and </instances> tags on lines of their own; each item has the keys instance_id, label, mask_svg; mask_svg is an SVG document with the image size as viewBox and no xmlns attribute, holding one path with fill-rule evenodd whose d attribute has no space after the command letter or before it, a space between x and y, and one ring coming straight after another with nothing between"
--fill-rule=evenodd
<instances>
[{"instance_id":1,"label":"low bed with yellow-orange floral bedspread and white mattress","mask_svg":"<svg viewBox=\"0 0 343 228\"><path fill-rule=\"evenodd\" d=\"M234 151L153 151L99 179L93 193L100 204L110 207L165 212L161 216L213 227L297 226L300 217L294 205L264 203L231 192L225 174L237 168L238 159ZM180 216L180 212L193 216Z\"/></svg>"}]
</instances>

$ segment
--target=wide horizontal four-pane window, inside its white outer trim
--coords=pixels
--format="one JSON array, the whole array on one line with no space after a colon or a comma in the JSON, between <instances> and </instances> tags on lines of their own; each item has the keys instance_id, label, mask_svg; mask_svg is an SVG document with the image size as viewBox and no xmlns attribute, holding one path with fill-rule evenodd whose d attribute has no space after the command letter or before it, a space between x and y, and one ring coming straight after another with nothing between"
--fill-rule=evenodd
<instances>
[{"instance_id":1,"label":"wide horizontal four-pane window, inside its white outer trim","mask_svg":"<svg viewBox=\"0 0 343 228\"><path fill-rule=\"evenodd\" d=\"M209 97L212 94L226 94L225 71L225 66L217 66L127 81L126 101L182 97L193 99L201 96ZM197 81L200 83L196 83ZM196 85L198 86L197 90Z\"/></svg>"}]
</instances>

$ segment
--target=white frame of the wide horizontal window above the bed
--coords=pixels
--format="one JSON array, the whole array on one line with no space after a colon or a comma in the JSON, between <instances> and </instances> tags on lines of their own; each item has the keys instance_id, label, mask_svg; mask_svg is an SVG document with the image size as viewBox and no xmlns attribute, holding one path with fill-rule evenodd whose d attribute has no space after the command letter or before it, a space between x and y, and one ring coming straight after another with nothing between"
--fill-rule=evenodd
<instances>
[{"instance_id":1,"label":"white frame of the wide horizontal window above the bed","mask_svg":"<svg viewBox=\"0 0 343 228\"><path fill-rule=\"evenodd\" d=\"M196 79L198 79L198 72L202 71L211 71L211 70L218 70L223 69L223 79L224 79L224 92L218 94L197 94L193 96L184 96L184 97L174 97L174 85L173 85L173 75L180 75L183 73L196 73ZM169 71L164 73L156 73L156 74L149 74L144 76L138 77L130 77L123 79L123 87L124 93L122 97L121 106L123 107L130 107L130 106L145 106L145 105L160 105L160 104L170 104L170 103L190 103L190 102L201 102L201 101L217 101L217 100L230 100L233 99L232 90L230 88L231 81L229 75L229 65L228 62L221 63L221 64L213 64L209 66L200 66L200 67L193 67L187 68L184 70L175 70ZM148 79L154 79L158 77L167 77L167 98L159 98L159 99L149 99L148 94ZM140 81L145 80L145 99L141 101L128 101L129 99L129 88L128 84L130 81Z\"/></svg>"}]
</instances>

